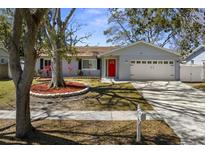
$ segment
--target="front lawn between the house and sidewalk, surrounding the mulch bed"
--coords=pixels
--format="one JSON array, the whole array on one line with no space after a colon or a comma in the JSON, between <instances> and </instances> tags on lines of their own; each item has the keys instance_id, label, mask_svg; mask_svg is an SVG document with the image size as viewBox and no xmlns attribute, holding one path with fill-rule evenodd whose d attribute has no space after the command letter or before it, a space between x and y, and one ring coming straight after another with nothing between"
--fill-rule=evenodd
<instances>
[{"instance_id":1,"label":"front lawn between the house and sidewalk, surrounding the mulch bed","mask_svg":"<svg viewBox=\"0 0 205 154\"><path fill-rule=\"evenodd\" d=\"M152 106L139 95L130 83L107 84L99 79L73 79L67 81L79 81L90 85L90 92L84 95L43 99L31 97L31 109L53 110L136 110L137 104L143 110L153 110ZM34 80L34 83L37 83ZM12 80L0 81L0 109L15 108L15 89Z\"/></svg>"}]
</instances>

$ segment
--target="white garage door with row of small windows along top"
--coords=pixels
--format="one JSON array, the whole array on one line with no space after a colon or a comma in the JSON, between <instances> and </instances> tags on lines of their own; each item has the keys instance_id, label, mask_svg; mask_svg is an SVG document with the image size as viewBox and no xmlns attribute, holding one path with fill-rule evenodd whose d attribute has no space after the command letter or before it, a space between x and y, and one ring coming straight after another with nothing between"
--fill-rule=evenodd
<instances>
[{"instance_id":1,"label":"white garage door with row of small windows along top","mask_svg":"<svg viewBox=\"0 0 205 154\"><path fill-rule=\"evenodd\" d=\"M130 77L133 80L175 80L173 60L131 60Z\"/></svg>"}]
</instances>

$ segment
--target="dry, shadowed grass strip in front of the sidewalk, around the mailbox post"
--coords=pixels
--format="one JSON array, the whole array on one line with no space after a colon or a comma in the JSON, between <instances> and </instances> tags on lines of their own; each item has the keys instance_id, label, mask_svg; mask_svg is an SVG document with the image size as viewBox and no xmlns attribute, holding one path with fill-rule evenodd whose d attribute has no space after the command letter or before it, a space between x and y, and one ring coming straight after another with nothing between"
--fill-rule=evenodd
<instances>
[{"instance_id":1,"label":"dry, shadowed grass strip in front of the sidewalk, around the mailbox post","mask_svg":"<svg viewBox=\"0 0 205 154\"><path fill-rule=\"evenodd\" d=\"M19 140L14 121L0 120L0 144L136 144L134 121L42 120L33 125L35 133ZM163 121L144 121L140 144L180 144L180 139Z\"/></svg>"}]
</instances>

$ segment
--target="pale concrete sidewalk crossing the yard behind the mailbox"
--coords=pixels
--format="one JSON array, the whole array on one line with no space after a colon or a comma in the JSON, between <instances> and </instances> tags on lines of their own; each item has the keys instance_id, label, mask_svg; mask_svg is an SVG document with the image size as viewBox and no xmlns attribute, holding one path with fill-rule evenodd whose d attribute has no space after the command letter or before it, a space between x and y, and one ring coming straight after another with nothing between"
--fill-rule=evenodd
<instances>
[{"instance_id":1,"label":"pale concrete sidewalk crossing the yard behind the mailbox","mask_svg":"<svg viewBox=\"0 0 205 154\"><path fill-rule=\"evenodd\" d=\"M16 113L11 110L0 110L0 119L15 119ZM136 120L134 111L31 111L32 120ZM156 112L147 112L147 120L160 119Z\"/></svg>"}]
</instances>

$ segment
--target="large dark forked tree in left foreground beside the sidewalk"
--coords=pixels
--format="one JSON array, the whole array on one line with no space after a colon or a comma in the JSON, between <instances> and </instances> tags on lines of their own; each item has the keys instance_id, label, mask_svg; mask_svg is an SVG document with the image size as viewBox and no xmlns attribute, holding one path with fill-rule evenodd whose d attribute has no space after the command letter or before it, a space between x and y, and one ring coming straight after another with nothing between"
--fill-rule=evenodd
<instances>
[{"instance_id":1,"label":"large dark forked tree in left foreground beside the sidewalk","mask_svg":"<svg viewBox=\"0 0 205 154\"><path fill-rule=\"evenodd\" d=\"M30 131L30 87L34 76L37 51L34 49L37 33L47 9L15 9L9 45L9 64L16 88L16 137L23 138ZM23 35L23 24L25 33ZM25 65L20 65L20 40L23 35Z\"/></svg>"}]
</instances>

